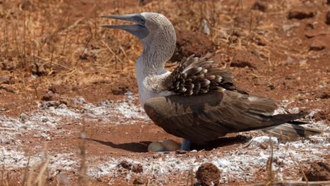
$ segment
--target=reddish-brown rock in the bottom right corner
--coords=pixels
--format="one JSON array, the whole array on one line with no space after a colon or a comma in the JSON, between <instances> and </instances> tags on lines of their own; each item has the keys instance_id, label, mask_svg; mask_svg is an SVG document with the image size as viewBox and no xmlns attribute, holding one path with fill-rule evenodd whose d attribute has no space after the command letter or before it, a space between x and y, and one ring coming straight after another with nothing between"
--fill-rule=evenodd
<instances>
[{"instance_id":1,"label":"reddish-brown rock in the bottom right corner","mask_svg":"<svg viewBox=\"0 0 330 186\"><path fill-rule=\"evenodd\" d=\"M309 169L305 170L308 181L330 180L330 164L322 161L314 162ZM302 178L302 180L305 180Z\"/></svg>"}]
</instances>

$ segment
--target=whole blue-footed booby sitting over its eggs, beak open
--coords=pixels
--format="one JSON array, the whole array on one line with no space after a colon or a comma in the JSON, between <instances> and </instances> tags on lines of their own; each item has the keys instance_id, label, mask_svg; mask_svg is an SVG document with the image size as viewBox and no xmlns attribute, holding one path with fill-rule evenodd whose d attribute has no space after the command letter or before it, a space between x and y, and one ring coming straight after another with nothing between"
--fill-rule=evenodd
<instances>
[{"instance_id":1,"label":"whole blue-footed booby sitting over its eggs, beak open","mask_svg":"<svg viewBox=\"0 0 330 186\"><path fill-rule=\"evenodd\" d=\"M206 58L189 56L172 71L164 69L176 48L176 32L160 13L102 16L128 20L135 25L102 25L121 29L142 42L142 55L135 64L140 104L154 123L182 137L181 149L190 142L204 144L230 132L264 130L295 140L321 130L300 126L306 113L280 113L271 99L251 95L233 84L228 71Z\"/></svg>"}]
</instances>

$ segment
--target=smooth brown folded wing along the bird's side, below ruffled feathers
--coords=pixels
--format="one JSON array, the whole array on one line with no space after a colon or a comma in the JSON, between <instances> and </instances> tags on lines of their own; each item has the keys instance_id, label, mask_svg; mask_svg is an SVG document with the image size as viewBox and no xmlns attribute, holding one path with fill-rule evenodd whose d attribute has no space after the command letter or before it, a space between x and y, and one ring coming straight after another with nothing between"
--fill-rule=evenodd
<instances>
[{"instance_id":1,"label":"smooth brown folded wing along the bird's side, below ruffled feathers","mask_svg":"<svg viewBox=\"0 0 330 186\"><path fill-rule=\"evenodd\" d=\"M202 144L226 135L281 125L305 113L278 114L274 101L233 91L148 99L145 111L166 132Z\"/></svg>"}]
</instances>

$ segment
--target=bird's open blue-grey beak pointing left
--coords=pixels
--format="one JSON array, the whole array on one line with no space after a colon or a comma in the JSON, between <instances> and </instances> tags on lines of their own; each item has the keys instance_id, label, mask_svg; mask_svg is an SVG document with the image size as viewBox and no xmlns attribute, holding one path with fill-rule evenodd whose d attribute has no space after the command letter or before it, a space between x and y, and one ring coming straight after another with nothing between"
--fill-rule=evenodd
<instances>
[{"instance_id":1,"label":"bird's open blue-grey beak pointing left","mask_svg":"<svg viewBox=\"0 0 330 186\"><path fill-rule=\"evenodd\" d=\"M135 35L139 39L145 38L149 35L149 30L145 27L144 23L141 23L141 17L139 13L126 14L126 15L112 15L112 16L102 16L102 18L112 18L118 20L128 20L130 22L137 23L135 25L102 25L105 28L116 28L121 30L126 30L132 35Z\"/></svg>"}]
</instances>

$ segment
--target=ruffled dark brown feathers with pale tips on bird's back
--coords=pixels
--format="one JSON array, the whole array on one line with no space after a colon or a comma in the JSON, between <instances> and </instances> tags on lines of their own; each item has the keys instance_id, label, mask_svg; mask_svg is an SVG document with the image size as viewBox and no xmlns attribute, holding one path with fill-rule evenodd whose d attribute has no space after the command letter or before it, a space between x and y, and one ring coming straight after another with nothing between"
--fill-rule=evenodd
<instances>
[{"instance_id":1,"label":"ruffled dark brown feathers with pale tips on bird's back","mask_svg":"<svg viewBox=\"0 0 330 186\"><path fill-rule=\"evenodd\" d=\"M181 61L171 75L164 80L164 87L183 95L204 94L209 90L222 88L247 94L238 90L232 80L231 73L216 68L213 61L189 56Z\"/></svg>"}]
</instances>

